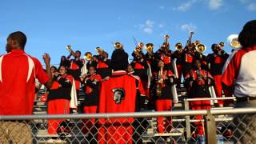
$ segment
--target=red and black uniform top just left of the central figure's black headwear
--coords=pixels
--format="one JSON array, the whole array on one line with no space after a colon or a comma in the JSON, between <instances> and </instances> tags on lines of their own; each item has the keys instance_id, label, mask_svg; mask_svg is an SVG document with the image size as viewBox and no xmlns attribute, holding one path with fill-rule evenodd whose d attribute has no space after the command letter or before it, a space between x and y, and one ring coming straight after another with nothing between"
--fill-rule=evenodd
<instances>
[{"instance_id":1,"label":"red and black uniform top just left of the central figure's black headwear","mask_svg":"<svg viewBox=\"0 0 256 144\"><path fill-rule=\"evenodd\" d=\"M110 59L104 58L101 55L98 55L97 58L97 74L99 74L102 77L102 79L109 77L112 73Z\"/></svg>"}]
</instances>

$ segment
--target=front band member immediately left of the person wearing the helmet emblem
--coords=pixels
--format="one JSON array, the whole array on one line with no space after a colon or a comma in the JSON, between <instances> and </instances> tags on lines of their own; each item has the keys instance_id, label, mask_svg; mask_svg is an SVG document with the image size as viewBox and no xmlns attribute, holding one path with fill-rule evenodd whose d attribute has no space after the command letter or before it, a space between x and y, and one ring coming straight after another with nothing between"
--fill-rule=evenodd
<instances>
[{"instance_id":1,"label":"front band member immediately left of the person wearing the helmet emblem","mask_svg":"<svg viewBox=\"0 0 256 144\"><path fill-rule=\"evenodd\" d=\"M84 114L95 114L98 110L98 102L99 102L99 90L100 83L102 82L102 78L99 74L96 74L96 67L89 67L89 74L84 74L81 77L82 89L85 91L85 100L82 102L82 110ZM92 138L94 134L96 134L94 127L95 118L85 119L83 120L85 126L82 128L83 134L88 134L90 130L90 138L87 137L89 142L92 142Z\"/></svg>"}]
</instances>

